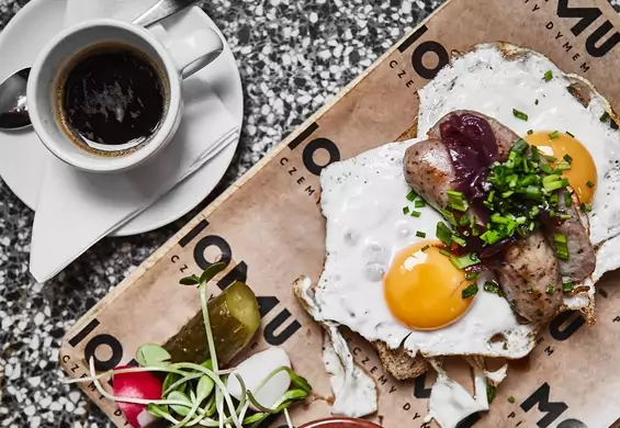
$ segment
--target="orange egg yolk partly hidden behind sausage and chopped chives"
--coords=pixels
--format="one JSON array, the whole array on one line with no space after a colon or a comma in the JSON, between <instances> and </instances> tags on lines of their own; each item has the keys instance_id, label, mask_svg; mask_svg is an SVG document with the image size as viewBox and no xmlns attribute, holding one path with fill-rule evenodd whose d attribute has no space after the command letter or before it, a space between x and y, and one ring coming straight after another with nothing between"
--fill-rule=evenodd
<instances>
[{"instance_id":1,"label":"orange egg yolk partly hidden behind sausage and chopped chives","mask_svg":"<svg viewBox=\"0 0 620 428\"><path fill-rule=\"evenodd\" d=\"M553 136L553 138L552 138ZM538 149L545 156L552 156L557 159L552 162L564 160L564 156L568 155L571 160L571 169L562 172L562 176L568 179L571 188L582 203L591 203L596 189L596 165L588 149L577 139L565 133L537 132L526 135L526 142Z\"/></svg>"}]
</instances>

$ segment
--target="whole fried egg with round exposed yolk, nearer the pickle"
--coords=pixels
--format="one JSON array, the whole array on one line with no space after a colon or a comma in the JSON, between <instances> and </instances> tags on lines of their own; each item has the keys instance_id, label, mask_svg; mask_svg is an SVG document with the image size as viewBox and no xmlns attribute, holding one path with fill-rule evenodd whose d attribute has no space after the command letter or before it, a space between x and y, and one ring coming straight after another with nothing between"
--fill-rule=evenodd
<instances>
[{"instance_id":1,"label":"whole fried egg with round exposed yolk, nearer the pickle","mask_svg":"<svg viewBox=\"0 0 620 428\"><path fill-rule=\"evenodd\" d=\"M478 293L463 299L472 281L440 251L441 215L406 198L403 157L417 142L388 144L323 171L320 316L412 356L521 358L534 345L533 327L519 324L504 297L484 291L489 272L476 279Z\"/></svg>"}]
</instances>

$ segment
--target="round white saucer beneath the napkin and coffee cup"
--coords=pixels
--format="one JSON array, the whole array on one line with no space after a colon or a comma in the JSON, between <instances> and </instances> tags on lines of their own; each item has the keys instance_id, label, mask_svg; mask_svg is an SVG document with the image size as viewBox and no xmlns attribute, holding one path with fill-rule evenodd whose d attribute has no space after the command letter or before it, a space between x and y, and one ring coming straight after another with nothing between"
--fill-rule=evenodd
<instances>
[{"instance_id":1,"label":"round white saucer beneath the napkin and coffee cup","mask_svg":"<svg viewBox=\"0 0 620 428\"><path fill-rule=\"evenodd\" d=\"M38 52L61 30L65 8L66 0L33 0L9 22L0 33L0 81L34 63ZM224 52L190 80L208 82L240 129L244 94L239 70L222 32L211 19L208 21L224 41ZM112 235L127 236L149 232L188 213L217 185L230 165L238 143L237 138L203 168ZM32 128L0 132L0 176L15 195L32 210L36 210L44 169L52 156Z\"/></svg>"}]
</instances>

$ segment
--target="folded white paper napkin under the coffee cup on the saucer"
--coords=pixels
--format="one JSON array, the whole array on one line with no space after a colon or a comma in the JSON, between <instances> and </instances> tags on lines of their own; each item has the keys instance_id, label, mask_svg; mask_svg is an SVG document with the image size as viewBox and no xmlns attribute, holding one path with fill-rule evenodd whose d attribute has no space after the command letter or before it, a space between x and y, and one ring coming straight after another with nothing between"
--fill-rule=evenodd
<instances>
[{"instance_id":1,"label":"folded white paper napkin under the coffee cup on the saucer","mask_svg":"<svg viewBox=\"0 0 620 428\"><path fill-rule=\"evenodd\" d=\"M119 8L119 3L132 3L132 7L145 3L143 0L103 2L105 9L108 3L114 3L114 8ZM69 0L68 3L68 10L71 10L78 3L92 5L99 2ZM146 3L148 8L151 1ZM88 10L81 5L79 9ZM183 95L185 110L174 139L137 169L98 174L77 170L56 158L50 160L37 202L31 241L30 271L38 282L56 275L237 138L235 121L203 81L190 79L183 82Z\"/></svg>"}]
</instances>

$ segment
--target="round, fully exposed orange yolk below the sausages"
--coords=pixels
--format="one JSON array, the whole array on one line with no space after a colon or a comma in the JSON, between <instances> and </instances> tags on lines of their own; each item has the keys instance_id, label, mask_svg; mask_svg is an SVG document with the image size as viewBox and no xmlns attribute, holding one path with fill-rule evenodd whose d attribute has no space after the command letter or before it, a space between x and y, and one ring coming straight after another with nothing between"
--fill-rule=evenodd
<instances>
[{"instance_id":1,"label":"round, fully exposed orange yolk below the sausages","mask_svg":"<svg viewBox=\"0 0 620 428\"><path fill-rule=\"evenodd\" d=\"M409 328L444 327L459 319L472 304L473 299L463 299L462 291L473 281L466 281L465 272L433 247L440 244L416 243L401 251L383 279L387 307Z\"/></svg>"}]
</instances>

